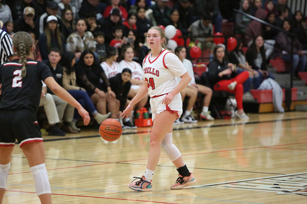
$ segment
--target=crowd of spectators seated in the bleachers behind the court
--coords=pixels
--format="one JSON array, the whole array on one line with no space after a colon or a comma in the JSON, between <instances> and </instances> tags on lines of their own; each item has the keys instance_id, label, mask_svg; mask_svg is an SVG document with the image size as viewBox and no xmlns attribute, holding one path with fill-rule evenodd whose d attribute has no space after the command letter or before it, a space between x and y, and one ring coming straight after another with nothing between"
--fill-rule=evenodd
<instances>
[{"instance_id":1,"label":"crowd of spectators seated in the bleachers behind the court","mask_svg":"<svg viewBox=\"0 0 307 204\"><path fill-rule=\"evenodd\" d=\"M257 89L264 79L274 79L267 71L269 60L277 57L290 61L288 35L235 13L234 8L295 33L292 72L295 76L307 71L307 17L301 11L293 14L286 0L16 0L7 4L2 0L0 20L2 30L11 37L19 31L32 35L33 58L46 62L58 83L92 113L98 124L109 116L121 120L119 114L142 86L142 61L150 52L146 46L148 29L173 25L182 35L190 35L202 50L209 50L213 60L208 65L208 83L192 80L181 93L189 101L182 120L176 121L179 124L196 121L191 111L198 92L204 95L200 118L214 120L208 110L212 90L234 93L236 117L248 118L243 96L251 96L249 90ZM235 25L237 37L231 52L214 42L214 34L222 32L227 22ZM191 72L188 50L178 46L173 51ZM46 93L52 95L45 90L42 98ZM146 106L147 100L148 96L143 98L133 113ZM49 120L49 135L65 135L63 130L80 132L76 127L78 113L54 101L52 107L59 114ZM59 121L64 124L62 130L54 125ZM136 128L133 118L121 122L124 128Z\"/></svg>"}]
</instances>

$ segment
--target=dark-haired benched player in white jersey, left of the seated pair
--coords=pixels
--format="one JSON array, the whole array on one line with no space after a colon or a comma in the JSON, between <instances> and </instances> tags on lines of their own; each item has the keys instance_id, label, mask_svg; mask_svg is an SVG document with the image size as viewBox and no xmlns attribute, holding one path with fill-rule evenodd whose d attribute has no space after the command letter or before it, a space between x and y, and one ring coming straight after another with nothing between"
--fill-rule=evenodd
<instances>
[{"instance_id":1,"label":"dark-haired benched player in white jersey, left of the seated pair","mask_svg":"<svg viewBox=\"0 0 307 204\"><path fill-rule=\"evenodd\" d=\"M113 76L116 76L118 73L122 73L119 68L119 64L116 62L118 57L118 52L114 47L109 47L106 50L106 60L103 61L100 66L102 67L107 78L110 79Z\"/></svg>"}]
</instances>

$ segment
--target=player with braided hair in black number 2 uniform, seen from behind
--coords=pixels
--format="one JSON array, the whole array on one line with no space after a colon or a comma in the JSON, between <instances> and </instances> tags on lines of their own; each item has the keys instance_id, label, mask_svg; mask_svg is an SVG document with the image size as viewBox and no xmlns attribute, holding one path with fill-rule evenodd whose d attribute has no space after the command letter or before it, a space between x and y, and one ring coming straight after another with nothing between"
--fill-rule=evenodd
<instances>
[{"instance_id":1,"label":"player with braided hair in black number 2 uniform, seen from behind","mask_svg":"<svg viewBox=\"0 0 307 204\"><path fill-rule=\"evenodd\" d=\"M17 139L24 152L41 203L51 203L51 188L45 167L45 150L37 123L36 112L40 102L41 80L60 98L75 106L84 124L90 121L87 111L52 77L49 67L30 59L33 40L26 32L17 32L13 49L19 58L0 66L2 83L0 102L0 203L6 189L11 154Z\"/></svg>"}]
</instances>

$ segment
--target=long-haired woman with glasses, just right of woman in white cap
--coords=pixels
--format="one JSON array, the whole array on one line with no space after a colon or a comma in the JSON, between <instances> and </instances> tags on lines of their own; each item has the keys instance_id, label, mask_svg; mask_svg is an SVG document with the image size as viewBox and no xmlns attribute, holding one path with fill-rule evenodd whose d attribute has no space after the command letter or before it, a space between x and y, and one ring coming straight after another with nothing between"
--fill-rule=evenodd
<instances>
[{"instance_id":1,"label":"long-haired woman with glasses, just right of woman in white cap","mask_svg":"<svg viewBox=\"0 0 307 204\"><path fill-rule=\"evenodd\" d=\"M70 34L75 32L76 29L76 23L75 23L75 17L72 13L72 10L70 9L64 9L61 15L61 18L63 20L63 36L65 39L65 42Z\"/></svg>"}]
</instances>

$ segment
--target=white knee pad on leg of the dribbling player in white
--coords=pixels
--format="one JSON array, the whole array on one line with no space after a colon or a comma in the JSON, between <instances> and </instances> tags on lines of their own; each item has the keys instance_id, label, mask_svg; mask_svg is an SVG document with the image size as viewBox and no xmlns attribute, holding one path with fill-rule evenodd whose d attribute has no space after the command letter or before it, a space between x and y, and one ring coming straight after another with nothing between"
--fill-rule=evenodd
<instances>
[{"instance_id":1,"label":"white knee pad on leg of the dribbling player in white","mask_svg":"<svg viewBox=\"0 0 307 204\"><path fill-rule=\"evenodd\" d=\"M169 157L171 161L175 161L181 156L178 148L173 144L172 132L167 133L162 140L161 149Z\"/></svg>"}]
</instances>

